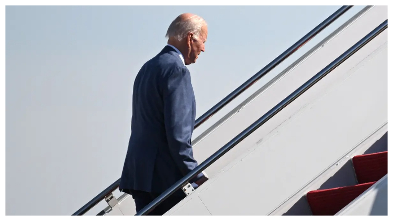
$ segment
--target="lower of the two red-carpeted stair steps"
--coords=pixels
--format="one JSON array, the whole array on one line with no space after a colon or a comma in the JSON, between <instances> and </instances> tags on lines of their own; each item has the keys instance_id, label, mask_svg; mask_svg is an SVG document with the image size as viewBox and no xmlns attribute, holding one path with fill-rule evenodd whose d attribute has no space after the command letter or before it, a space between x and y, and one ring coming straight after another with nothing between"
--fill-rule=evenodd
<instances>
[{"instance_id":1,"label":"lower of the two red-carpeted stair steps","mask_svg":"<svg viewBox=\"0 0 393 221\"><path fill-rule=\"evenodd\" d=\"M334 216L374 183L376 182L313 190L308 192L306 197L314 216Z\"/></svg>"}]
</instances>

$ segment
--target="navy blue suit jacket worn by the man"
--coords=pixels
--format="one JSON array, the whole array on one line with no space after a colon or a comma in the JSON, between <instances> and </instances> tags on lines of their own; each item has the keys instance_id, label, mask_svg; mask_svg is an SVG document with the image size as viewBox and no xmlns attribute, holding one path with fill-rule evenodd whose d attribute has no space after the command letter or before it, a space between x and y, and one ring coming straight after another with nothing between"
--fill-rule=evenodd
<instances>
[{"instance_id":1,"label":"navy blue suit jacket worn by the man","mask_svg":"<svg viewBox=\"0 0 393 221\"><path fill-rule=\"evenodd\" d=\"M120 190L162 193L197 166L191 146L195 112L190 72L175 49L165 46L135 78Z\"/></svg>"}]
</instances>

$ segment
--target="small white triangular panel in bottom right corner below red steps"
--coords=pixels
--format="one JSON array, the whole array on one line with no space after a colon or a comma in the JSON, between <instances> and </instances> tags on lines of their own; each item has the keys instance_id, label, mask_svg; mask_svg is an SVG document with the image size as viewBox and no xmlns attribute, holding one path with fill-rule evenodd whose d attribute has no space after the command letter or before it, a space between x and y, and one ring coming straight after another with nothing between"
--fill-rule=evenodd
<instances>
[{"instance_id":1,"label":"small white triangular panel in bottom right corner below red steps","mask_svg":"<svg viewBox=\"0 0 393 221\"><path fill-rule=\"evenodd\" d=\"M336 215L388 216L388 175L385 175Z\"/></svg>"}]
</instances>

